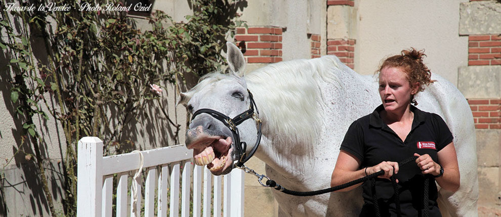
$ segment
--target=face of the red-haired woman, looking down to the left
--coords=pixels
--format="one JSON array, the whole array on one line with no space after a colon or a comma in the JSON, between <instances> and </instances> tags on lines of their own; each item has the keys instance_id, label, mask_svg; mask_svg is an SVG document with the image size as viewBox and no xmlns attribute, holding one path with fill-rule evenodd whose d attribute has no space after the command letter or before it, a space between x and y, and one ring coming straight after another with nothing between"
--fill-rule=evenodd
<instances>
[{"instance_id":1,"label":"face of the red-haired woman, looking down to the left","mask_svg":"<svg viewBox=\"0 0 501 217\"><path fill-rule=\"evenodd\" d=\"M379 95L386 112L406 109L411 94L415 91L409 85L407 75L401 68L385 67L379 73Z\"/></svg>"}]
</instances>

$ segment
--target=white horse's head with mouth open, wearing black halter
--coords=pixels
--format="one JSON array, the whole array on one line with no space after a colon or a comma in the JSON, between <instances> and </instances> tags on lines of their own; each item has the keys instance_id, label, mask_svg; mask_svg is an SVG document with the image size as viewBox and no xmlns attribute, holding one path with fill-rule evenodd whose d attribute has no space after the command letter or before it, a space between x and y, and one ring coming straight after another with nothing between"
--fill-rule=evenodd
<instances>
[{"instance_id":1,"label":"white horse's head with mouth open, wearing black halter","mask_svg":"<svg viewBox=\"0 0 501 217\"><path fill-rule=\"evenodd\" d=\"M227 48L230 74L207 75L193 89L181 93L181 103L193 115L186 132L186 146L194 149L196 165L206 165L214 175L228 174L234 161L241 157L237 150L242 148L236 141L245 142L246 149L250 150L258 132L252 112L250 118L247 116L241 123L227 122L227 118L233 119L248 111L253 103L243 79L245 60L242 52L229 42ZM232 124L237 125L239 136L231 130Z\"/></svg>"}]
</instances>

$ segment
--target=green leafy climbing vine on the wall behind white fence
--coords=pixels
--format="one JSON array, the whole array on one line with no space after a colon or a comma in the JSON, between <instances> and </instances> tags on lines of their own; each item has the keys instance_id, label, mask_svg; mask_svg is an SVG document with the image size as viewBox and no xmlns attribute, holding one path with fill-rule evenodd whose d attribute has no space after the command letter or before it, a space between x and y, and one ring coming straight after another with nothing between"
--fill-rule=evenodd
<instances>
[{"instance_id":1,"label":"green leafy climbing vine on the wall behind white fence","mask_svg":"<svg viewBox=\"0 0 501 217\"><path fill-rule=\"evenodd\" d=\"M76 10L84 2L95 4L57 0L56 5L68 5L72 10L3 10L0 21L2 32L7 33L0 39L0 47L12 76L11 112L23 122L18 148L22 146L26 159L36 163L53 216L56 212L43 166L48 155L40 151L49 138L40 136L34 120L53 118L64 130L63 207L65 215L73 216L78 140L83 136L101 138L106 143L105 154L137 148L124 129L135 128L134 121L146 115L146 108L161 101L152 85L172 84L182 89L187 85L186 76L201 76L220 68L224 42L242 24L235 21L240 1L192 0L193 15L185 17L187 22L174 22L169 15L154 11L145 18L151 30L138 29L124 12ZM16 3L37 6L49 2ZM5 9L5 4L0 3L1 8ZM37 52L47 55L35 56ZM162 114L165 125L174 131L171 141L178 143L180 125L164 111Z\"/></svg>"}]
</instances>

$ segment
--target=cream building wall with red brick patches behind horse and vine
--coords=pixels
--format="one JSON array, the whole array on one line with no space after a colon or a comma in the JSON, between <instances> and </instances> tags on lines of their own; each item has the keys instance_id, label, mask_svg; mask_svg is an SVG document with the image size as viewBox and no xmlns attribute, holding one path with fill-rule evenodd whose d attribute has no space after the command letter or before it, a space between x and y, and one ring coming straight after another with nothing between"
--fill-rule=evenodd
<instances>
[{"instance_id":1,"label":"cream building wall with red brick patches behind horse and vine","mask_svg":"<svg viewBox=\"0 0 501 217\"><path fill-rule=\"evenodd\" d=\"M425 49L425 63L432 73L456 85L472 107L477 128L479 216L501 213L501 2L247 0L239 5L240 19L249 28L239 28L229 40L245 47L247 70L279 61L334 54L356 72L371 75L389 55L409 47ZM177 21L190 14L187 1L156 1L153 8L165 11ZM1 87L0 90L0 117L3 117L0 158L10 158L18 134L15 118L5 103L9 100L9 90ZM175 105L177 93L173 89L166 92L165 103L170 114L176 114L177 123L184 124L184 108ZM64 152L59 150L62 130L44 132L55 137L47 151L53 159L51 167L58 168L57 158ZM158 139L157 135L161 132L138 136L137 143L161 144L168 140ZM144 148L158 146L144 145ZM33 196L33 192L41 191L28 188L24 184L29 182L28 178L20 176L22 162L16 158L6 165L6 179L11 186L4 186L4 198L9 213L45 215L44 201ZM264 173L264 164L257 158L249 161L248 167ZM16 183L20 184L13 185ZM55 189L52 191L57 192ZM277 216L278 206L271 190L261 187L254 176L245 177L245 204L246 216Z\"/></svg>"}]
</instances>

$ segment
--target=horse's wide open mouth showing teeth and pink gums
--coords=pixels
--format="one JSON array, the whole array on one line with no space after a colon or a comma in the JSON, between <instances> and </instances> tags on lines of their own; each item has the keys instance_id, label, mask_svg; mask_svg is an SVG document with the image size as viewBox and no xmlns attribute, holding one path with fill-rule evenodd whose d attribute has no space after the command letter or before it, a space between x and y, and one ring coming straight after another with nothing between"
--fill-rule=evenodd
<instances>
[{"instance_id":1,"label":"horse's wide open mouth showing teeth and pink gums","mask_svg":"<svg viewBox=\"0 0 501 217\"><path fill-rule=\"evenodd\" d=\"M208 136L201 138L188 148L193 148L193 158L198 166L207 165L213 173L221 173L226 165L231 164L229 154L231 153L231 137Z\"/></svg>"}]
</instances>

